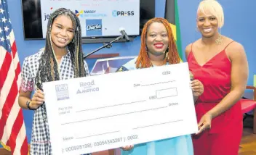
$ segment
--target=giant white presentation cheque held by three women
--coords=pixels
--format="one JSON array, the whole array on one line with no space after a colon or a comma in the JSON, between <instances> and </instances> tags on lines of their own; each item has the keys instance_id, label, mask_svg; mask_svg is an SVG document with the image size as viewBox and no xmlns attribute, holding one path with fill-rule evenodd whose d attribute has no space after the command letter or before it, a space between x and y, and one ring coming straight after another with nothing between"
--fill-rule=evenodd
<instances>
[{"instance_id":1,"label":"giant white presentation cheque held by three women","mask_svg":"<svg viewBox=\"0 0 256 155\"><path fill-rule=\"evenodd\" d=\"M54 155L198 130L187 63L44 83L44 93Z\"/></svg>"}]
</instances>

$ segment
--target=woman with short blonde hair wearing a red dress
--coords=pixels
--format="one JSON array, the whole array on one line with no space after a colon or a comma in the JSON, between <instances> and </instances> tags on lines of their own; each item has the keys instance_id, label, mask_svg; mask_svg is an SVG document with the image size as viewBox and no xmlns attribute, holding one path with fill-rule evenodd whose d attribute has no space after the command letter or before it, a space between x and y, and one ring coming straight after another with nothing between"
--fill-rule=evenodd
<instances>
[{"instance_id":1,"label":"woman with short blonde hair wearing a red dress","mask_svg":"<svg viewBox=\"0 0 256 155\"><path fill-rule=\"evenodd\" d=\"M195 155L237 155L243 123L239 100L247 85L248 62L244 47L218 28L223 9L215 0L204 0L197 12L199 40L185 49L195 79L204 85L196 101L199 132L193 135Z\"/></svg>"}]
</instances>

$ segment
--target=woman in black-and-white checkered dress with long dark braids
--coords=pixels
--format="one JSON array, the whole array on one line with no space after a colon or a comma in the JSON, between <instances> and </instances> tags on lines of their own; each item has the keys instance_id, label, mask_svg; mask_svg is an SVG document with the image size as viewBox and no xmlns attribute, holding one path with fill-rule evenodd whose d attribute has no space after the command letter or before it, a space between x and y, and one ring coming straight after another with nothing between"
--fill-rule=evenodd
<instances>
[{"instance_id":1,"label":"woman in black-and-white checkered dress with long dark braids","mask_svg":"<svg viewBox=\"0 0 256 155\"><path fill-rule=\"evenodd\" d=\"M81 49L81 25L69 9L57 9L47 25L46 45L25 58L19 104L34 110L30 154L52 154L42 83L88 75ZM35 91L31 98L32 91Z\"/></svg>"}]
</instances>

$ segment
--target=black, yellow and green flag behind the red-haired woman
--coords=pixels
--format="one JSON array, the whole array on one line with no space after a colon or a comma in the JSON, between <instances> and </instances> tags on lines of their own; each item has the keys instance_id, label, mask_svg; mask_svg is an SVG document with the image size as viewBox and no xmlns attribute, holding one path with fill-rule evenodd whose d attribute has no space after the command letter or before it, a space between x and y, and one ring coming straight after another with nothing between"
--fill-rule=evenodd
<instances>
[{"instance_id":1,"label":"black, yellow and green flag behind the red-haired woman","mask_svg":"<svg viewBox=\"0 0 256 155\"><path fill-rule=\"evenodd\" d=\"M174 34L176 45L177 45L177 51L179 53L181 62L183 62L183 51L181 48L180 22L179 22L177 0L166 0L165 18L169 21L171 25L172 33Z\"/></svg>"}]
</instances>

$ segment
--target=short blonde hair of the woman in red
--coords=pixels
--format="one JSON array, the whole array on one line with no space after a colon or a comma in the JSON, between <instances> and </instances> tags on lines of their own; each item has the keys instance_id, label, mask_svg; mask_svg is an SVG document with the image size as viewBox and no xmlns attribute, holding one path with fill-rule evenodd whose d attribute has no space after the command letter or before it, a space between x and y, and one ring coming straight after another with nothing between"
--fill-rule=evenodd
<instances>
[{"instance_id":1,"label":"short blonde hair of the woman in red","mask_svg":"<svg viewBox=\"0 0 256 155\"><path fill-rule=\"evenodd\" d=\"M204 10L209 10L212 15L214 15L217 18L218 22L218 27L222 28L224 25L224 12L223 12L223 7L221 7L220 3L217 2L216 0L203 0L199 4L199 8L197 9L197 12L199 10L205 14Z\"/></svg>"}]
</instances>

